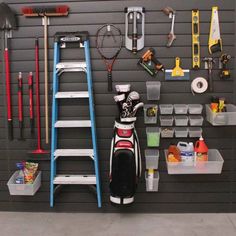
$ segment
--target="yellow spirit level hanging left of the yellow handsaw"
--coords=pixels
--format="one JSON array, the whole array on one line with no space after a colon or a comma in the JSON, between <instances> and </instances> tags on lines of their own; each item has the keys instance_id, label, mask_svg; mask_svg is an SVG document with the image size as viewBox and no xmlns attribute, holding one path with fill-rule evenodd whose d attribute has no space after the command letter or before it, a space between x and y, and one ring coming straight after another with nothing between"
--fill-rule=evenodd
<instances>
[{"instance_id":1,"label":"yellow spirit level hanging left of the yellow handsaw","mask_svg":"<svg viewBox=\"0 0 236 236\"><path fill-rule=\"evenodd\" d=\"M193 69L200 68L199 10L192 10L192 57Z\"/></svg>"}]
</instances>

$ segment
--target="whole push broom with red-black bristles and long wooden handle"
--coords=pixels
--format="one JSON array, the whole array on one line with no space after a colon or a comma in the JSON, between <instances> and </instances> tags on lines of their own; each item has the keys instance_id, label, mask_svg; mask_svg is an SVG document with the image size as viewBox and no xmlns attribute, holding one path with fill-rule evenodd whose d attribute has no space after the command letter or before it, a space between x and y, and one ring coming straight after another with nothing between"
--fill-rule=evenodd
<instances>
[{"instance_id":1,"label":"whole push broom with red-black bristles and long wooden handle","mask_svg":"<svg viewBox=\"0 0 236 236\"><path fill-rule=\"evenodd\" d=\"M22 13L26 17L42 17L44 26L44 84L45 84L45 134L46 143L49 142L49 115L48 115L48 25L49 17L67 16L69 7L60 6L33 6L22 8Z\"/></svg>"}]
</instances>

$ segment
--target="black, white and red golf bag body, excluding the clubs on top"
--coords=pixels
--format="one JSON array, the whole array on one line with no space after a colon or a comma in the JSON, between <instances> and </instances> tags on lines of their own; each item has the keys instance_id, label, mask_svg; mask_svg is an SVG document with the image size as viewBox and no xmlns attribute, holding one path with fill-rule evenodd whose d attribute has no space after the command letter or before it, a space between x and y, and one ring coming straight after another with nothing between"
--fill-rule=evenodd
<instances>
[{"instance_id":1,"label":"black, white and red golf bag body, excluding the clubs on top","mask_svg":"<svg viewBox=\"0 0 236 236\"><path fill-rule=\"evenodd\" d=\"M141 176L141 153L134 122L115 121L110 152L110 201L115 205L133 203Z\"/></svg>"}]
</instances>

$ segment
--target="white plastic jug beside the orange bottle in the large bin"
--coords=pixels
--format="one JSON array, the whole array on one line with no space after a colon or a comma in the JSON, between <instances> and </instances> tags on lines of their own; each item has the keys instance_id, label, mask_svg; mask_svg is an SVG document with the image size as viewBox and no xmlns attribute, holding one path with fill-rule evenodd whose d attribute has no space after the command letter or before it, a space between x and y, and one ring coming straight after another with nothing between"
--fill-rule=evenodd
<instances>
[{"instance_id":1,"label":"white plastic jug beside the orange bottle in the large bin","mask_svg":"<svg viewBox=\"0 0 236 236\"><path fill-rule=\"evenodd\" d=\"M193 165L194 163L193 143L178 142L177 147L180 150L181 161L187 165Z\"/></svg>"}]
</instances>

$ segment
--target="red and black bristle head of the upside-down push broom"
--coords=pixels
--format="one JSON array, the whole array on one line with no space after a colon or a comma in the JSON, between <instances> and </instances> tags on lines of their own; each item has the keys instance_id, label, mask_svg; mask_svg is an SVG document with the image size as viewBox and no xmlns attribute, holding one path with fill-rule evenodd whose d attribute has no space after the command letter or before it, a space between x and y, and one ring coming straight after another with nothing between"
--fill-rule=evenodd
<instances>
[{"instance_id":1,"label":"red and black bristle head of the upside-down push broom","mask_svg":"<svg viewBox=\"0 0 236 236\"><path fill-rule=\"evenodd\" d=\"M69 7L66 5L59 6L34 6L23 7L22 13L25 16L66 16L68 15Z\"/></svg>"}]
</instances>

